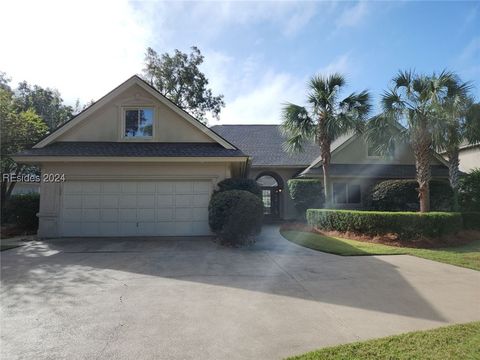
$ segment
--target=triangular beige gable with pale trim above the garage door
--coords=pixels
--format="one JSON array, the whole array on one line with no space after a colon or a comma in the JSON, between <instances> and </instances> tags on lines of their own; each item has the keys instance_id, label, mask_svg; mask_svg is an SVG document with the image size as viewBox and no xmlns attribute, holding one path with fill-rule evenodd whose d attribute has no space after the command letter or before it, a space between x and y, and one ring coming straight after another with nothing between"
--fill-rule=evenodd
<instances>
[{"instance_id":1,"label":"triangular beige gable with pale trim above the garage door","mask_svg":"<svg viewBox=\"0 0 480 360\"><path fill-rule=\"evenodd\" d=\"M124 95L131 93L132 89L137 89L137 94L126 99ZM112 104L115 104L115 106ZM220 144L225 149L236 149L234 145L175 105L136 75L56 129L37 143L34 148L42 148L55 141L122 141L118 129L118 123L121 121L120 110L118 109L122 106L142 106L148 104L155 104L156 109L158 108L159 113L161 112L161 116L156 115L156 120L157 117L164 120L168 119L161 125L162 128L158 131L158 137L155 136L154 131L154 139L152 141L214 142ZM102 112L106 111L109 111L109 113L103 114L102 117ZM96 121L92 123L94 118ZM72 138L74 132L79 132L80 134ZM100 138L94 137L94 134L97 133ZM104 137L102 138L102 136Z\"/></svg>"}]
</instances>

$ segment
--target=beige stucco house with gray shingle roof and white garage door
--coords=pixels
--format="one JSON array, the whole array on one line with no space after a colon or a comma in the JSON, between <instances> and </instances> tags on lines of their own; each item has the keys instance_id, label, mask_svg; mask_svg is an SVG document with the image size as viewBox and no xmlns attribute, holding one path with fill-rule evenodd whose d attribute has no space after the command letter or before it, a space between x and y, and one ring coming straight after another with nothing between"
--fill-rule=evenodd
<instances>
[{"instance_id":1,"label":"beige stucco house with gray shingle roof and white garage door","mask_svg":"<svg viewBox=\"0 0 480 360\"><path fill-rule=\"evenodd\" d=\"M257 180L267 217L297 216L287 181L322 178L319 149L292 155L284 141L278 125L208 128L133 76L14 159L52 180L41 183L40 237L207 235L208 202L225 178ZM446 178L444 160L432 160ZM374 182L415 176L407 146L385 159L358 135L332 144L331 166L337 207L362 207Z\"/></svg>"}]
</instances>

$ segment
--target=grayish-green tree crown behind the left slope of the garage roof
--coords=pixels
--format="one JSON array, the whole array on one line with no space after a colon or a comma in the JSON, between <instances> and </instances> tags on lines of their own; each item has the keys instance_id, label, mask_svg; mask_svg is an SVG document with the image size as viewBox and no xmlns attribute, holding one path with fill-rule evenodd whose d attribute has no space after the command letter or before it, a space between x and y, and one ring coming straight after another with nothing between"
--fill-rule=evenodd
<instances>
[{"instance_id":1,"label":"grayish-green tree crown behind the left slope of the garage roof","mask_svg":"<svg viewBox=\"0 0 480 360\"><path fill-rule=\"evenodd\" d=\"M56 89L29 85L26 81L18 84L15 91L17 112L33 109L48 125L50 131L71 119L74 109L64 105L60 92Z\"/></svg>"}]
</instances>

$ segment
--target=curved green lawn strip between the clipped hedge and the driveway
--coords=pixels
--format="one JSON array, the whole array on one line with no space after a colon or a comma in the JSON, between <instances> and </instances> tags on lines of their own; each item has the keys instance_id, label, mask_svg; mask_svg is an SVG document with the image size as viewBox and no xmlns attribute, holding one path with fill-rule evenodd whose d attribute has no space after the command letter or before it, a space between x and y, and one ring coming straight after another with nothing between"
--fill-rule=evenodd
<instances>
[{"instance_id":1,"label":"curved green lawn strip between the clipped hedge and the driveway","mask_svg":"<svg viewBox=\"0 0 480 360\"><path fill-rule=\"evenodd\" d=\"M438 249L413 249L372 244L363 241L330 237L297 230L281 230L280 233L284 238L298 245L336 255L358 256L408 254L451 265L480 270L480 239L462 246Z\"/></svg>"}]
</instances>

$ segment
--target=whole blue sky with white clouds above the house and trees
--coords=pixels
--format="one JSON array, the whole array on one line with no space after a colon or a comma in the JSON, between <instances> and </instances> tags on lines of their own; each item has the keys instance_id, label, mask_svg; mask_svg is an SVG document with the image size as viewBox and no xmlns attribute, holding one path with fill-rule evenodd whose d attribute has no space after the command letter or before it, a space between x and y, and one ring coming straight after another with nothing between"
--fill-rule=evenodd
<instances>
[{"instance_id":1,"label":"whole blue sky with white clouds above the house and trees","mask_svg":"<svg viewBox=\"0 0 480 360\"><path fill-rule=\"evenodd\" d=\"M399 69L454 70L474 82L480 98L478 2L30 5L31 21L7 40L13 51L0 54L0 70L14 81L59 88L70 102L99 98L139 73L147 46L162 53L192 45L205 55L203 70L212 88L225 95L220 123L278 123L282 103L303 103L310 76L334 71L347 76L347 91L369 89L375 105ZM7 19L18 19L22 11L25 17L23 2L3 6ZM9 25L14 20L3 26ZM39 27L59 30L60 39L46 43ZM35 64L28 57L32 51Z\"/></svg>"}]
</instances>

